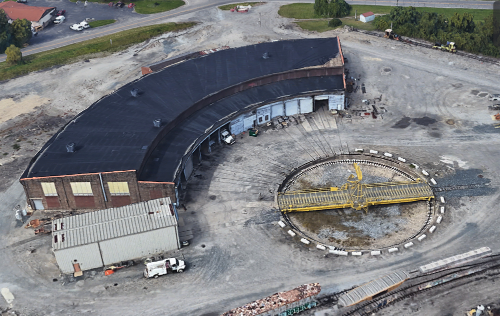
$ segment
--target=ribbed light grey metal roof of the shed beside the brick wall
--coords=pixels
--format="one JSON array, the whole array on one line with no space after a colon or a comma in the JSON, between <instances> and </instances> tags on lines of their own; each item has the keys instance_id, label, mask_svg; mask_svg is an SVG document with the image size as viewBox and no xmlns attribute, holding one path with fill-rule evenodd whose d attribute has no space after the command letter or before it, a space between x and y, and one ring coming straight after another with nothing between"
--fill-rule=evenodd
<instances>
[{"instance_id":1,"label":"ribbed light grey metal roof of the shed beside the brick wall","mask_svg":"<svg viewBox=\"0 0 500 316\"><path fill-rule=\"evenodd\" d=\"M175 226L171 205L170 198L161 198L56 219L52 221L52 250Z\"/></svg>"}]
</instances>

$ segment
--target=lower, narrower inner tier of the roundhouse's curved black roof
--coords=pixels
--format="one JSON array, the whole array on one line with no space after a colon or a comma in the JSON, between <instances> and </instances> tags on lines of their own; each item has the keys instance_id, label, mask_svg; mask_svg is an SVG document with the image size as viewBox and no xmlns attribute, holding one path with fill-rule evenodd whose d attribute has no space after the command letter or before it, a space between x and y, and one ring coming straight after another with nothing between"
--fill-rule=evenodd
<instances>
[{"instance_id":1,"label":"lower, narrower inner tier of the roundhouse's curved black roof","mask_svg":"<svg viewBox=\"0 0 500 316\"><path fill-rule=\"evenodd\" d=\"M207 131L214 125L218 128L217 122L224 122L226 117L248 106L270 103L284 96L292 97L295 94L342 89L342 75L288 79L244 90L205 106L198 110L196 115L183 120L161 139L147 159L139 180L176 181L175 178L178 176L176 172L180 170L179 165L185 162L186 153L197 145L200 136L208 134Z\"/></svg>"}]
</instances>

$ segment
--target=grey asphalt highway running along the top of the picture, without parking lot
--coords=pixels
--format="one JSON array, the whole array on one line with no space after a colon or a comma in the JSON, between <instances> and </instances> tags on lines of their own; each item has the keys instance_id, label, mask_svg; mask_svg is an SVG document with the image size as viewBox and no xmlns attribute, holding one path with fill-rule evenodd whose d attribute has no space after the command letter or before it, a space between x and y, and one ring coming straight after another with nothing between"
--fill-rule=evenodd
<instances>
[{"instance_id":1,"label":"grey asphalt highway running along the top of the picture, without parking lot","mask_svg":"<svg viewBox=\"0 0 500 316\"><path fill-rule=\"evenodd\" d=\"M290 3L289 1L282 0L267 0L268 2L282 2L283 4ZM185 1L186 4L161 13L144 15L144 17L135 19L132 23L127 23L126 21L117 21L116 23L110 24L109 26L103 26L96 29L90 29L89 32L85 34L75 34L73 36L64 37L61 39L50 40L43 43L38 43L21 49L22 55L30 55L37 52L46 51L49 49L54 49L62 47L65 45L77 43L91 38L96 38L99 36L105 36L113 34L119 31L131 29L134 27L146 26L151 24L159 24L168 22L170 18L186 15L193 12L198 12L212 8L214 6L219 6L227 3L233 3L235 1L207 1L207 0L191 0ZM237 2L237 1L236 1ZM313 0L297 0L293 2L303 2L303 3L313 3ZM418 1L408 1L408 0L352 0L348 1L350 4L369 4L369 5L403 5L403 6L423 6L423 7L457 7L457 8L477 8L477 9L492 9L494 1L482 1L482 0L418 0ZM0 54L0 62L5 61L5 54Z\"/></svg>"}]
</instances>

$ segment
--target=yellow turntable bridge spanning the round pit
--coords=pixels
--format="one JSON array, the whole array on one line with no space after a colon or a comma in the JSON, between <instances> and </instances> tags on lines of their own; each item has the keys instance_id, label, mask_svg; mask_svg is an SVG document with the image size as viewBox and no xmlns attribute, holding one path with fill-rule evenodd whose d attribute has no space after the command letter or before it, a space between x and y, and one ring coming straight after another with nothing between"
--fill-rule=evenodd
<instances>
[{"instance_id":1,"label":"yellow turntable bridge spanning the round pit","mask_svg":"<svg viewBox=\"0 0 500 316\"><path fill-rule=\"evenodd\" d=\"M405 203L434 198L430 187L421 179L366 184L361 183L363 176L357 163L354 163L354 169L357 179L351 174L347 178L347 183L341 187L279 193L279 210L288 213L353 208L355 210L363 209L367 212L371 205Z\"/></svg>"}]
</instances>

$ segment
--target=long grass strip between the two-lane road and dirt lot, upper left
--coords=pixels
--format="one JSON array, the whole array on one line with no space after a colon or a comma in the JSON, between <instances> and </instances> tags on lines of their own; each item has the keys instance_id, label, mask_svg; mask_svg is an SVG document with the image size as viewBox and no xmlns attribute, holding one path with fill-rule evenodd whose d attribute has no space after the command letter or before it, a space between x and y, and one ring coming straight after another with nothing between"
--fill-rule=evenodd
<instances>
[{"instance_id":1,"label":"long grass strip between the two-lane road and dirt lot, upper left","mask_svg":"<svg viewBox=\"0 0 500 316\"><path fill-rule=\"evenodd\" d=\"M196 22L165 23L136 27L111 35L92 38L79 43L55 48L23 57L24 64L9 66L0 63L0 80L17 77L32 71L38 71L55 65L64 65L85 59L89 54L113 53L133 44L143 42L153 36L170 31L178 31L195 25ZM113 44L110 45L109 40Z\"/></svg>"}]
</instances>

